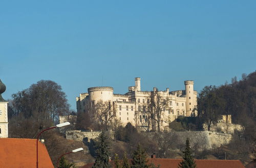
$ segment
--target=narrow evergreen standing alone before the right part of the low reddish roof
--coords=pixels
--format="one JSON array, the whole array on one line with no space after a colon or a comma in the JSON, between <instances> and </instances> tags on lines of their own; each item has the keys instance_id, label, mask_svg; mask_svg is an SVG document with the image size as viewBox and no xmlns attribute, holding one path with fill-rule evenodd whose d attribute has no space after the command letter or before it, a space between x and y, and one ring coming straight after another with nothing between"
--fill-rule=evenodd
<instances>
[{"instance_id":1,"label":"narrow evergreen standing alone before the right part of the low reddish roof","mask_svg":"<svg viewBox=\"0 0 256 168\"><path fill-rule=\"evenodd\" d=\"M182 151L183 153L183 160L180 162L179 167L182 168L195 168L197 165L195 163L195 160L192 156L191 148L189 146L189 140L186 139L186 148L185 151Z\"/></svg>"}]
</instances>

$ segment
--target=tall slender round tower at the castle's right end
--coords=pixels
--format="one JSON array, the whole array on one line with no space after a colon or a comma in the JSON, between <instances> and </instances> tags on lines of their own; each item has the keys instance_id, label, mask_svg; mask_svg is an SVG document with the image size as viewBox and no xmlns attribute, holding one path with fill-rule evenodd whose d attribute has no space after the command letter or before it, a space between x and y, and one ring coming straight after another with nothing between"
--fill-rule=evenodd
<instances>
[{"instance_id":1,"label":"tall slender round tower at the castle's right end","mask_svg":"<svg viewBox=\"0 0 256 168\"><path fill-rule=\"evenodd\" d=\"M185 92L186 92L186 116L190 116L194 109L194 81L186 80Z\"/></svg>"}]
</instances>

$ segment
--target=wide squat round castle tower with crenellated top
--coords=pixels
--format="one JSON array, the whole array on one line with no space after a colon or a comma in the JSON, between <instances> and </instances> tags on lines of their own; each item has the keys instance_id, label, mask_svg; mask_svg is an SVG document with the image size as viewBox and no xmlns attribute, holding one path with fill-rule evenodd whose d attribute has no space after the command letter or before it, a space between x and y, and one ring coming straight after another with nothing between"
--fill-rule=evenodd
<instances>
[{"instance_id":1,"label":"wide squat round castle tower with crenellated top","mask_svg":"<svg viewBox=\"0 0 256 168\"><path fill-rule=\"evenodd\" d=\"M105 101L113 101L113 92L114 89L112 87L93 87L88 88L88 94L90 97L90 101L102 100Z\"/></svg>"}]
</instances>

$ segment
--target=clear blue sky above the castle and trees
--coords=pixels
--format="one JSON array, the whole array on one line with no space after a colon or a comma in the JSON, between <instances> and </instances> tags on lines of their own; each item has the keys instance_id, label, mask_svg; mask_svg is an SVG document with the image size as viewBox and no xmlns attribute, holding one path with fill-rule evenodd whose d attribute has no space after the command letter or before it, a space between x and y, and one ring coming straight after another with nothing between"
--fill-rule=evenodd
<instances>
[{"instance_id":1,"label":"clear blue sky above the castle and trees","mask_svg":"<svg viewBox=\"0 0 256 168\"><path fill-rule=\"evenodd\" d=\"M87 88L124 94L134 77L142 90L200 91L255 70L256 1L0 2L5 99L53 80L76 109Z\"/></svg>"}]
</instances>

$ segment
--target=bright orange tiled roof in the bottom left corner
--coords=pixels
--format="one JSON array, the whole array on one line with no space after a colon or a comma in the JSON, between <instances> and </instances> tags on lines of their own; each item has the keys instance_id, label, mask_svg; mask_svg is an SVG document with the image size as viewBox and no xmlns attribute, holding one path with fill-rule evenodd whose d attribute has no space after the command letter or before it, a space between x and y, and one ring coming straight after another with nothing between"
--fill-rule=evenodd
<instances>
[{"instance_id":1,"label":"bright orange tiled roof in the bottom left corner","mask_svg":"<svg viewBox=\"0 0 256 168\"><path fill-rule=\"evenodd\" d=\"M38 165L54 167L45 145L40 142ZM36 139L0 138L0 167L36 167Z\"/></svg>"}]
</instances>

